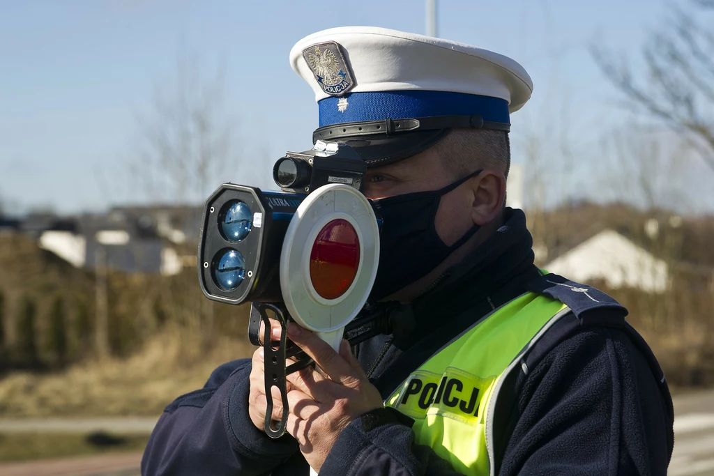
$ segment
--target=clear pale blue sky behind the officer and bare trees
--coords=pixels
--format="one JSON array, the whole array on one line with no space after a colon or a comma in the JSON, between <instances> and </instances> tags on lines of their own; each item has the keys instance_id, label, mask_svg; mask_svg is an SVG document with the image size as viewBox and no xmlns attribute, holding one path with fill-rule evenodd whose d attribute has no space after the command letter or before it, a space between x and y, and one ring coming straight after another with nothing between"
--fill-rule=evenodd
<instances>
[{"instance_id":1,"label":"clear pale blue sky behind the officer and bare trees","mask_svg":"<svg viewBox=\"0 0 714 476\"><path fill-rule=\"evenodd\" d=\"M511 116L513 162L529 163L538 143L550 200L605 200L600 144L635 119L588 48L626 55L636 69L671 6L439 0L438 36L521 63L535 88ZM0 12L0 200L9 213L79 213L151 199L130 164L140 159L142 118L176 83L179 59L206 81L222 71L232 161L221 181L274 188L272 163L310 148L317 127L311 88L288 64L293 44L333 26L423 34L426 9L422 0L0 0ZM688 211L714 211L710 173L693 159L678 175L695 197Z\"/></svg>"}]
</instances>

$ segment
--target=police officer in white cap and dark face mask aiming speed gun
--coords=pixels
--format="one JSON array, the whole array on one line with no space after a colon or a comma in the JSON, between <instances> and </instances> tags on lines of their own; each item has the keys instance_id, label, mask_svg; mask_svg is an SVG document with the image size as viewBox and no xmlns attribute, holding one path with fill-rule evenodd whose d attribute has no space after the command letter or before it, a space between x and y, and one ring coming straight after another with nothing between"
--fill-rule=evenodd
<instances>
[{"instance_id":1,"label":"police officer in white cap and dark face mask aiming speed gun","mask_svg":"<svg viewBox=\"0 0 714 476\"><path fill-rule=\"evenodd\" d=\"M288 433L263 432L263 355L178 397L144 475L664 475L673 409L627 311L533 265L505 207L509 115L531 96L515 61L376 28L290 54L316 94L313 141L350 144L383 217L371 298L410 325L338 353L296 325L323 370L288 376ZM281 415L280 399L273 415Z\"/></svg>"}]
</instances>

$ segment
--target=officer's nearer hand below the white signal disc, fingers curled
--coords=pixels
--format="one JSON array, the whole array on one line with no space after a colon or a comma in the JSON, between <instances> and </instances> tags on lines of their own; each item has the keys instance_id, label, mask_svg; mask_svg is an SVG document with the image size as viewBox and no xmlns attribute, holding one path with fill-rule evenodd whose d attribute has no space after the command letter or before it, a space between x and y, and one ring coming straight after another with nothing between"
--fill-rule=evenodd
<instances>
[{"instance_id":1,"label":"officer's nearer hand below the white signal disc, fingers curled","mask_svg":"<svg viewBox=\"0 0 714 476\"><path fill-rule=\"evenodd\" d=\"M346 340L342 341L338 354L317 335L295 323L288 324L288 336L324 372L323 375L305 368L288 375L288 385L292 385L288 387L287 430L300 443L300 451L310 466L319 471L344 427L366 412L382 407L382 397L367 379ZM276 403L279 398L278 395ZM263 415L264 412L263 404Z\"/></svg>"}]
</instances>

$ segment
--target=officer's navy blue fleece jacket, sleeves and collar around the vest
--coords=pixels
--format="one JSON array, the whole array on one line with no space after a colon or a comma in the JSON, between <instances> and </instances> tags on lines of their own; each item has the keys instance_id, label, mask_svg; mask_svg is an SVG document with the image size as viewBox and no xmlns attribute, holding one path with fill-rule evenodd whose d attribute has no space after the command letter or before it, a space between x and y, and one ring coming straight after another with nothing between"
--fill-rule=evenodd
<instances>
[{"instance_id":1,"label":"officer's navy blue fleece jacket, sleeves and collar around the vest","mask_svg":"<svg viewBox=\"0 0 714 476\"><path fill-rule=\"evenodd\" d=\"M538 278L531 245L523 213L509 210L495 236L413 303L413 326L354 349L383 397L462 330L528 289ZM607 314L600 313L601 322ZM498 474L665 475L672 401L638 339L629 328L605 324L545 339L547 348L528 360L528 373L507 383L513 401L496 415ZM250 371L247 359L221 365L202 389L166 407L142 474L307 475L292 437L271 440L249 419ZM320 474L457 474L430 447L415 445L409 420L393 413L351 422Z\"/></svg>"}]
</instances>

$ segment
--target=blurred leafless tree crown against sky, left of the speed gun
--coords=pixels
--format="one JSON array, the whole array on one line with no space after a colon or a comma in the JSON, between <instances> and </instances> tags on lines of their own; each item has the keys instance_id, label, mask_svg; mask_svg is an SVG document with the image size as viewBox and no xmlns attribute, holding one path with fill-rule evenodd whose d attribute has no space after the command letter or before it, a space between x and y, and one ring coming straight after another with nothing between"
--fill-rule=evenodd
<instances>
[{"instance_id":1,"label":"blurred leafless tree crown against sky, left of the speed gun","mask_svg":"<svg viewBox=\"0 0 714 476\"><path fill-rule=\"evenodd\" d=\"M151 107L139 114L139 151L129 162L143 194L164 203L201 203L236 165L224 83L223 66L204 79L201 61L182 54L174 79L157 86Z\"/></svg>"}]
</instances>

